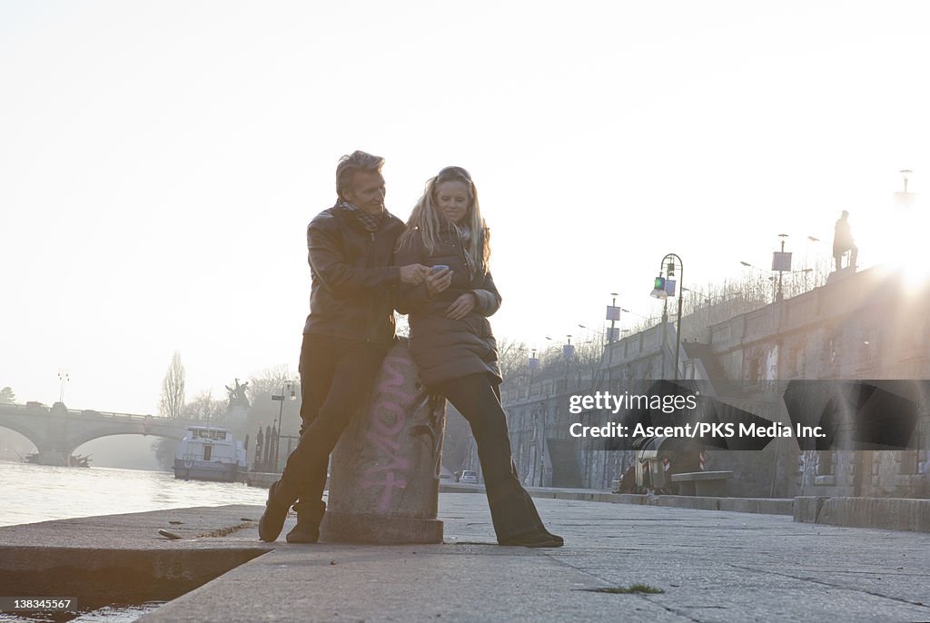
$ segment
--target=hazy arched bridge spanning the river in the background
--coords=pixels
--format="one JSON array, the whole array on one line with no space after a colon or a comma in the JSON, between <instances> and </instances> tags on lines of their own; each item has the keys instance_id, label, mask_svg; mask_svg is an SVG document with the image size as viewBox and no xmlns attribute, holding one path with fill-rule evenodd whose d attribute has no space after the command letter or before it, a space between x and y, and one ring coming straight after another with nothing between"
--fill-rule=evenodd
<instances>
[{"instance_id":1,"label":"hazy arched bridge spanning the river in the background","mask_svg":"<svg viewBox=\"0 0 930 623\"><path fill-rule=\"evenodd\" d=\"M0 404L0 427L17 431L35 444L36 462L67 465L73 451L98 437L140 434L180 439L192 424L188 419L156 418L128 413L68 409L56 403Z\"/></svg>"}]
</instances>

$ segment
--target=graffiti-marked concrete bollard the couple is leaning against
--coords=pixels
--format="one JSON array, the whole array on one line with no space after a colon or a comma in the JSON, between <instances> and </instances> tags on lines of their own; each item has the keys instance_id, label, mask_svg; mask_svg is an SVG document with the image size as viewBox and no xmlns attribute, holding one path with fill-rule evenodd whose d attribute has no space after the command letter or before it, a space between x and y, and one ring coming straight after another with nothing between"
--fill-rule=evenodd
<instances>
[{"instance_id":1,"label":"graffiti-marked concrete bollard the couple is leaning against","mask_svg":"<svg viewBox=\"0 0 930 623\"><path fill-rule=\"evenodd\" d=\"M320 539L441 543L436 510L444 432L445 399L427 395L402 339L333 451Z\"/></svg>"}]
</instances>

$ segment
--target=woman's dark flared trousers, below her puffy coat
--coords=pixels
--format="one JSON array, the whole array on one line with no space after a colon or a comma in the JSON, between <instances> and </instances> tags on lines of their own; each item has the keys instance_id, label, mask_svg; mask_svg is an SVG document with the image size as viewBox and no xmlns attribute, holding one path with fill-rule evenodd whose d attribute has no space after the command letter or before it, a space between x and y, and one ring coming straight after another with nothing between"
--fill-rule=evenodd
<instances>
[{"instance_id":1,"label":"woman's dark flared trousers, below her puffy coat","mask_svg":"<svg viewBox=\"0 0 930 623\"><path fill-rule=\"evenodd\" d=\"M472 426L498 541L545 531L513 464L498 384L485 374L473 374L431 389L443 394Z\"/></svg>"}]
</instances>

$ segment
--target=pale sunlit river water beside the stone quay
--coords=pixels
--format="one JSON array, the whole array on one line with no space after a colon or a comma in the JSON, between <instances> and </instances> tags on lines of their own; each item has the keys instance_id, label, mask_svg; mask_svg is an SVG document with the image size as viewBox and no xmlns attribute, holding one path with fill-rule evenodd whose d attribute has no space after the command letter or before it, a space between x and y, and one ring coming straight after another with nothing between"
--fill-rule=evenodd
<instances>
[{"instance_id":1,"label":"pale sunlit river water beside the stone quay","mask_svg":"<svg viewBox=\"0 0 930 623\"><path fill-rule=\"evenodd\" d=\"M192 506L264 506L267 496L267 489L245 484L180 481L165 471L0 462L0 526ZM0 596L3 594L0 587ZM28 617L0 613L0 622L128 623L159 605L113 604L71 616Z\"/></svg>"}]
</instances>

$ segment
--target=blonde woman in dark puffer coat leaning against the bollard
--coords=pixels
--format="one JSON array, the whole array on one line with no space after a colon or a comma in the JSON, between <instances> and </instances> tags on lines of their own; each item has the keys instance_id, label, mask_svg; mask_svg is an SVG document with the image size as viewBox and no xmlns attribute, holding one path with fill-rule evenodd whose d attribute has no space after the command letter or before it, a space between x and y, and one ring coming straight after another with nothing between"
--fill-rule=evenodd
<instances>
[{"instance_id":1,"label":"blonde woman in dark puffer coat leaning against the bollard","mask_svg":"<svg viewBox=\"0 0 930 623\"><path fill-rule=\"evenodd\" d=\"M562 537L543 526L511 458L497 343L487 322L500 306L489 257L472 177L448 166L427 182L394 258L398 266L432 266L432 274L422 285L401 285L395 307L409 314L410 355L420 379L472 425L498 543L560 547Z\"/></svg>"}]
</instances>

